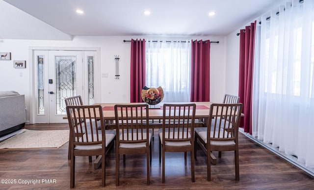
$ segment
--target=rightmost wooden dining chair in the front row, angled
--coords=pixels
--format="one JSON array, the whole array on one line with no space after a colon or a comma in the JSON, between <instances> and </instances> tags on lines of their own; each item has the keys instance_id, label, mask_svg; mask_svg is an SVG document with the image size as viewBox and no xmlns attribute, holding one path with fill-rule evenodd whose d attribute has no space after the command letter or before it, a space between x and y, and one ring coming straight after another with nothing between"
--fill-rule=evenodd
<instances>
[{"instance_id":1,"label":"rightmost wooden dining chair in the front row, angled","mask_svg":"<svg viewBox=\"0 0 314 190\"><path fill-rule=\"evenodd\" d=\"M238 128L242 107L241 103L213 103L209 108L208 126L195 128L195 149L199 144L207 155L208 181L211 180L211 151L235 151L235 180L239 180Z\"/></svg>"}]
</instances>

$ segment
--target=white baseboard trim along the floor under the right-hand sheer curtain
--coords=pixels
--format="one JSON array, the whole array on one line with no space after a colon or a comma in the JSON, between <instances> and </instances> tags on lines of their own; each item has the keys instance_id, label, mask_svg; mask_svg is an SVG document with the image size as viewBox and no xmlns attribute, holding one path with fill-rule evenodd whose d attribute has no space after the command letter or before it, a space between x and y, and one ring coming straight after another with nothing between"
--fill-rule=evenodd
<instances>
[{"instance_id":1,"label":"white baseboard trim along the floor under the right-hand sheer curtain","mask_svg":"<svg viewBox=\"0 0 314 190\"><path fill-rule=\"evenodd\" d=\"M283 158L284 160L286 160L290 164L292 164L292 165L302 169L303 171L305 171L306 173L308 173L309 175L314 177L314 168L306 167L305 164L298 162L297 158L295 158L294 156L285 154L283 152L280 152L278 147L275 147L275 146L273 146L271 144L266 144L266 143L262 142L261 140L258 140L256 137L253 137L249 133L245 133L243 128L239 128L239 132L244 134L247 138L249 138L253 142L258 143L262 147L264 147L267 150L273 152L274 154L276 154L277 156Z\"/></svg>"}]
</instances>

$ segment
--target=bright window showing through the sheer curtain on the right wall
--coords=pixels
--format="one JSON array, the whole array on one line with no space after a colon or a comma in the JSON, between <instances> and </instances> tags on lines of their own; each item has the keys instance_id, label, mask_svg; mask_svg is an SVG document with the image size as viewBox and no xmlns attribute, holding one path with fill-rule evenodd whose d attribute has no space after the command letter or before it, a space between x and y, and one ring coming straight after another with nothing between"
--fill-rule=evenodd
<instances>
[{"instance_id":1,"label":"bright window showing through the sheer curtain on the right wall","mask_svg":"<svg viewBox=\"0 0 314 190\"><path fill-rule=\"evenodd\" d=\"M275 18L274 18L275 19ZM274 20L273 19L273 20ZM278 24L278 23L277 23ZM272 94L287 95L287 91L294 96L301 96L301 83L303 80L310 80L308 85L309 91L306 92L311 97L313 84L313 65L314 65L314 22L312 23L311 39L311 63L304 66L307 61L302 60L302 49L305 42L302 41L303 27L299 26L291 31L282 32L280 25L266 25L266 38L264 39L265 49L265 82L264 92ZM270 36L270 30L274 30ZM287 46L286 44L293 44ZM303 50L304 51L304 50ZM303 52L304 53L304 52ZM301 64L303 62L303 65ZM306 71L308 68L308 71ZM301 74L303 73L303 74ZM304 73L307 73L304 75ZM270 75L269 75L270 74ZM288 89L290 88L290 89ZM292 91L290 91L292 90Z\"/></svg>"}]
</instances>

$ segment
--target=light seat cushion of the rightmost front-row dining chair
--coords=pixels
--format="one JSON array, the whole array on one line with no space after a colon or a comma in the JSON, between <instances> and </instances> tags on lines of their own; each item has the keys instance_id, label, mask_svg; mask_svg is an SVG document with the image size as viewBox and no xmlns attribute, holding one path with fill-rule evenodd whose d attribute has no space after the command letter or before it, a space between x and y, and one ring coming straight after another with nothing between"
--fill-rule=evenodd
<instances>
[{"instance_id":1,"label":"light seat cushion of the rightmost front-row dining chair","mask_svg":"<svg viewBox=\"0 0 314 190\"><path fill-rule=\"evenodd\" d=\"M200 138L207 143L207 127L196 127L195 132L200 136ZM223 138L231 137L228 132L225 132L225 135L223 134L223 129L220 130L219 137ZM213 131L210 132L210 138L213 138ZM218 138L218 133L216 131L215 133L215 138ZM210 141L211 145L218 145L218 146L223 146L223 145L235 145L235 141Z\"/></svg>"}]
</instances>

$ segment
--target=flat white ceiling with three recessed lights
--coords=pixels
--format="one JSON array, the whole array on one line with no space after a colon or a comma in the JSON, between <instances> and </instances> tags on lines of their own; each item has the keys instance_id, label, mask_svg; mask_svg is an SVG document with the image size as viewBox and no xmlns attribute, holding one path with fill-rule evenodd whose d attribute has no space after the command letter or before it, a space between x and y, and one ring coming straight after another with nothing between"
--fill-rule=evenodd
<instances>
[{"instance_id":1,"label":"flat white ceiling with three recessed lights","mask_svg":"<svg viewBox=\"0 0 314 190\"><path fill-rule=\"evenodd\" d=\"M225 36L284 0L4 1L70 36ZM210 11L216 14L209 16Z\"/></svg>"}]
</instances>

